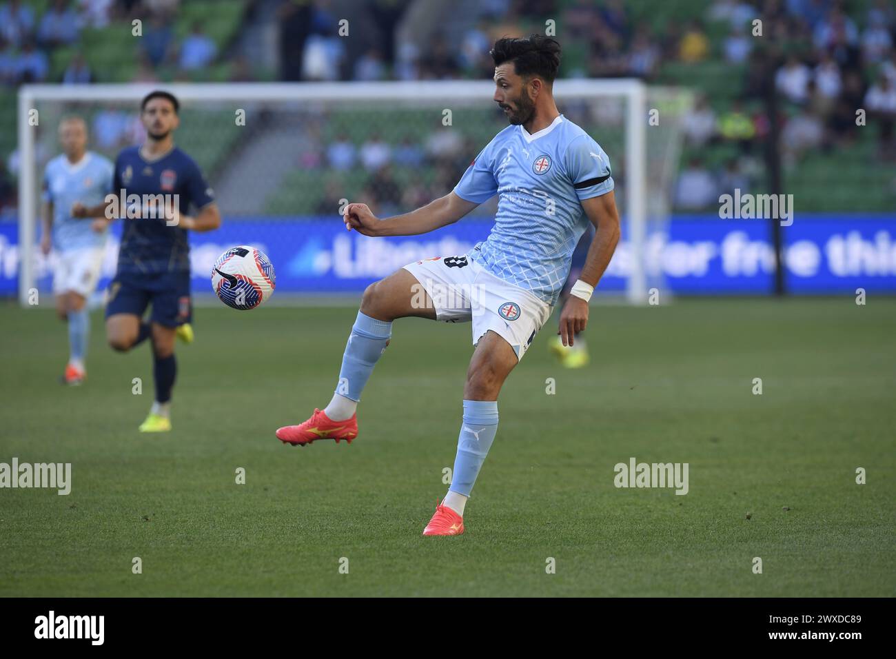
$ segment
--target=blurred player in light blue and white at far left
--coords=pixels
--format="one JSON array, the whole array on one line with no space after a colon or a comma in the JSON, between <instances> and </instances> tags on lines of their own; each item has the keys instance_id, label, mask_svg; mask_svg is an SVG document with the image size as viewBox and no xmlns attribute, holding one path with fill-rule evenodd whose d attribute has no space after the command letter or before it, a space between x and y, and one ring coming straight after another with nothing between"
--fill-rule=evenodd
<instances>
[{"instance_id":1,"label":"blurred player in light blue and white at far left","mask_svg":"<svg viewBox=\"0 0 896 659\"><path fill-rule=\"evenodd\" d=\"M40 248L45 255L51 249L56 252L56 313L68 321L69 360L62 381L80 385L87 376L87 299L99 282L108 224L104 220L74 218L72 207L102 202L112 190L113 168L108 159L87 151L87 126L81 117L60 122L59 142L63 153L47 162L44 171Z\"/></svg>"}]
</instances>

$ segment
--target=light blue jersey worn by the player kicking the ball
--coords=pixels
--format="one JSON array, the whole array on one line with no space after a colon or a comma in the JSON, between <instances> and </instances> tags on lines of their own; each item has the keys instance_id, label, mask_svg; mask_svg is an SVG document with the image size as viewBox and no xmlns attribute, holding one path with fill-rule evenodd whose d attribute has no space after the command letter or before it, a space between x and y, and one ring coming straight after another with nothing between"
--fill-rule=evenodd
<instances>
[{"instance_id":1,"label":"light blue jersey worn by the player kicking the ball","mask_svg":"<svg viewBox=\"0 0 896 659\"><path fill-rule=\"evenodd\" d=\"M563 115L535 134L508 126L454 187L475 204L499 195L495 226L468 256L554 305L588 227L580 202L606 195L613 186L607 154Z\"/></svg>"}]
</instances>

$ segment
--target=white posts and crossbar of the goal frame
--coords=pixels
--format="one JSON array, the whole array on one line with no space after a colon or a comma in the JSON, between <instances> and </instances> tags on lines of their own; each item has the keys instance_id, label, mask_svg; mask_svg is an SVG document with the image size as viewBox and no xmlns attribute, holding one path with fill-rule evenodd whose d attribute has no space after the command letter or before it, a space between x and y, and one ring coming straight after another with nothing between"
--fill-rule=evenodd
<instances>
[{"instance_id":1,"label":"white posts and crossbar of the goal frame","mask_svg":"<svg viewBox=\"0 0 896 659\"><path fill-rule=\"evenodd\" d=\"M35 225L38 218L39 172L43 165L38 162L37 140L34 126L30 126L29 113L32 108L41 104L47 107L68 108L77 104L86 104L94 108L104 103L133 102L134 108L142 97L154 89L165 89L174 93L182 105L193 104L202 108L202 104L232 104L233 108L257 104L265 107L277 107L283 111L294 111L297 108L313 108L315 104L329 104L332 107L364 108L365 103L394 101L396 107L419 108L452 108L452 104L463 102L467 107L491 108L493 105L494 82L490 81L420 81L420 82L305 82L305 83L134 83L134 84L26 84L19 88L19 126L18 142L20 153L19 176L19 252L20 276L19 298L22 306L28 306L29 291L35 287ZM563 108L570 102L590 103L601 100L620 102L624 108L624 117L620 128L624 133L622 152L618 148L607 148L600 134L592 135L605 146L614 169L625 162L624 195L620 202L624 221L624 235L629 245L629 256L626 259L628 285L626 294L636 304L646 301L649 282L645 274L644 255L648 212L654 214L657 204L650 201L650 195L656 194L660 186L654 176L654 160L657 160L651 147L648 153L648 130L657 131L649 126L648 102L654 102L654 93L664 88L648 88L642 81L635 79L612 80L558 80L554 93L558 105ZM668 92L668 90L666 90ZM685 94L685 92L681 92ZM688 99L690 97L687 97ZM676 97L670 108L677 108L676 113L684 116L690 108L689 100L681 102ZM441 109L440 109L441 111ZM563 111L561 109L561 111ZM676 117L672 117L675 119ZM41 123L43 122L41 117ZM665 117L664 117L665 120ZM674 121L673 121L674 123ZM614 129L616 130L616 129ZM610 131L607 131L610 132ZM659 132L659 131L658 131ZM662 158L670 165L664 167L661 184L668 187L669 171L677 168L677 157L680 148L680 130L673 129L675 138L666 140L662 147ZM653 139L653 133L651 133ZM43 139L47 139L45 136ZM481 149L485 143L477 144ZM648 170L650 169L650 186ZM214 187L215 182L211 185ZM618 190L618 186L617 186ZM359 200L363 201L363 200ZM650 205L650 208L649 208ZM660 204L662 205L662 204ZM668 206L668 204L667 204ZM227 207L221 211L227 215ZM665 208L668 212L668 207Z\"/></svg>"}]
</instances>

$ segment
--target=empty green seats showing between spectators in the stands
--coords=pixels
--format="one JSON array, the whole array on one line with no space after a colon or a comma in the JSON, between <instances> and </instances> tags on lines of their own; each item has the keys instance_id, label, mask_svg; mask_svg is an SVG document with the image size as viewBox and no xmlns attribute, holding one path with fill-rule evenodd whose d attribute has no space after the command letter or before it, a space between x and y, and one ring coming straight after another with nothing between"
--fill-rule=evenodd
<instances>
[{"instance_id":1,"label":"empty green seats showing between spectators in the stands","mask_svg":"<svg viewBox=\"0 0 896 659\"><path fill-rule=\"evenodd\" d=\"M30 3L39 16L47 7L47 0L35 0ZM558 0L556 15L563 15L565 9L572 6L573 0ZM600 4L600 3L599 3ZM866 20L866 11L870 0L857 0L848 5L849 16L861 30ZM705 34L710 40L709 56L698 62L687 63L676 57L664 56L659 62L656 74L651 83L687 86L705 95L711 108L717 115L724 114L735 100L742 97L744 91L746 65L731 65L724 60L723 42L728 35L727 22L709 20L710 0L669 0L665 3L626 3L625 12L631 26L650 26L651 34L656 38L665 36L670 24L684 26L691 21L701 21ZM234 74L233 58L229 56L231 47L244 27L246 4L240 0L185 0L173 17L170 29L174 42L179 43L191 30L194 22L201 22L202 29L216 44L218 57L216 61L199 71L182 72L171 62L164 62L155 67L153 74L161 82L185 80L189 82L225 82ZM553 14L552 14L553 15ZM528 29L537 26L544 17L525 16L522 25ZM474 19L469 18L468 22ZM461 21L461 19L459 19ZM147 28L143 26L144 30ZM455 26L455 33L461 33L462 27ZM576 75L587 72L591 65L590 39L564 39L564 57L561 75ZM812 44L805 40L792 39L786 44L788 51L799 55L812 52ZM47 82L58 82L62 79L66 67L76 53L82 53L93 72L96 82L129 82L140 72L141 43L134 39L129 25L118 20L101 29L88 28L81 32L78 43L72 46L53 48L49 51L50 73ZM470 68L461 72L466 77L480 75ZM865 71L866 79L874 77L874 71ZM270 79L270 71L258 69L254 76L259 79ZM4 107L15 107L15 92L11 88L0 88L0 103ZM787 110L787 103L782 109ZM749 99L744 104L745 111L751 116L762 111L759 100ZM347 134L349 140L359 149L366 135L362 123L366 110L340 110L328 117L322 126L320 139L325 145L332 142L337 134ZM185 117L189 117L187 109ZM400 117L394 112L393 117ZM185 120L184 128L178 134L178 141L191 152L196 153L197 160L203 169L213 175L226 167L228 154L237 147L242 135L232 130L221 130L225 122L232 126L232 115L221 112L220 116L205 114L202 121ZM494 134L496 125L491 121L458 120L454 126L463 131L464 139L481 146ZM396 146L401 140L410 137L417 143L426 143L432 134L432 126L424 126L416 121L394 120L383 126L383 140ZM596 134L601 143L607 137ZM3 113L0 117L0 155L4 158L15 148L16 132L14 113ZM754 149L759 169L754 172L752 186L757 193L767 192L767 183L762 172L761 145ZM607 144L605 144L605 148ZM738 157L735 143L722 140L713 141L696 147L685 147L682 162L700 156L703 164L712 171L720 172L728 161ZM838 208L850 211L885 212L896 206L896 166L882 162L878 157L877 127L869 125L858 131L855 143L841 145L838 151L822 153L810 150L796 161L788 162L783 171L785 190L797 195L798 207L804 211L825 211ZM427 160L422 169L406 170L401 167L392 168L392 178L396 180L417 180L426 185L435 179L435 168L438 163ZM323 168L314 172L297 168L285 172L280 186L271 190L263 202L263 207L270 212L312 212L322 202L326 180L337 177L349 186L349 191L360 192L367 185L371 174L363 170L341 174L329 169L326 162Z\"/></svg>"}]
</instances>

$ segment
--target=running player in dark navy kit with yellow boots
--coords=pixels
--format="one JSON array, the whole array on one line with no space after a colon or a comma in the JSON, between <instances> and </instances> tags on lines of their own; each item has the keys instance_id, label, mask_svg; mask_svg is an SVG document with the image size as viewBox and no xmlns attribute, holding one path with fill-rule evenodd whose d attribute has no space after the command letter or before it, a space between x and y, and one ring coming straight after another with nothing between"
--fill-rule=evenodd
<instances>
[{"instance_id":1,"label":"running player in dark navy kit with yellow boots","mask_svg":"<svg viewBox=\"0 0 896 659\"><path fill-rule=\"evenodd\" d=\"M146 339L152 342L156 397L140 426L142 432L171 429L175 337L193 341L187 230L220 227L211 188L193 159L174 145L178 109L177 99L167 91L152 91L142 100L146 142L118 154L113 180L118 198L108 199L97 213L109 221L125 222L118 269L108 290L108 343L126 352ZM191 206L196 209L194 215L187 214ZM73 214L87 216L96 210L75 204Z\"/></svg>"}]
</instances>

